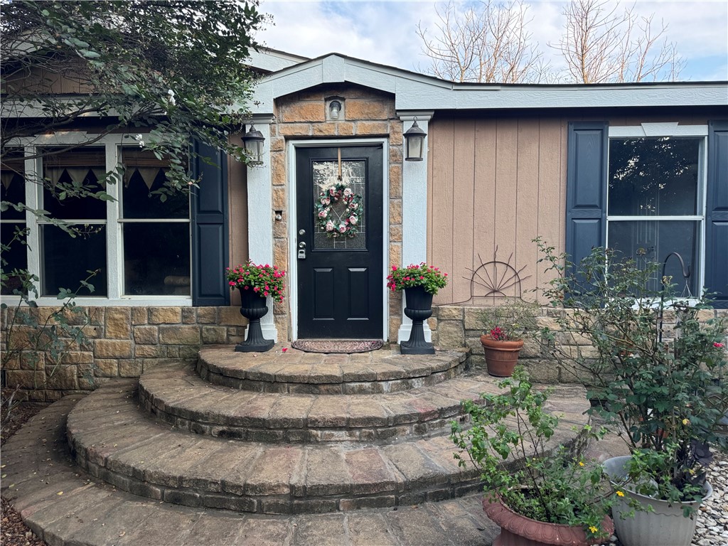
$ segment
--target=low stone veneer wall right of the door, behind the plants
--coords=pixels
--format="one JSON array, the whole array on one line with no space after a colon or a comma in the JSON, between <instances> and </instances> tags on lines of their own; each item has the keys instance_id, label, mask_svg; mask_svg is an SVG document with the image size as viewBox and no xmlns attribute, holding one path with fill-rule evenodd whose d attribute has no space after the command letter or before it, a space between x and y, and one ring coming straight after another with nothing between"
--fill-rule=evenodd
<instances>
[{"instance_id":1,"label":"low stone veneer wall right of the door, behind the plants","mask_svg":"<svg viewBox=\"0 0 728 546\"><path fill-rule=\"evenodd\" d=\"M470 347L472 349L471 363L476 368L486 365L483 346L480 344L480 336L483 334L483 328L478 320L480 309L482 308L478 306L433 306L432 317L429 321L432 329L432 343L443 348ZM548 326L551 330L558 330L554 317L556 313L560 312L563 311L552 307L542 307L541 316L538 317L539 325ZM728 315L728 309L705 309L699 312L698 318L708 320L719 315ZM672 339L674 321L674 312L666 312L664 316L665 341ZM578 345L582 355L593 354L594 349L590 347L590 341L587 339L577 339L566 333L559 336L557 333L556 341L565 346ZM579 382L577 373L556 363L534 339L524 341L518 362L526 367L535 381L543 383Z\"/></svg>"}]
</instances>

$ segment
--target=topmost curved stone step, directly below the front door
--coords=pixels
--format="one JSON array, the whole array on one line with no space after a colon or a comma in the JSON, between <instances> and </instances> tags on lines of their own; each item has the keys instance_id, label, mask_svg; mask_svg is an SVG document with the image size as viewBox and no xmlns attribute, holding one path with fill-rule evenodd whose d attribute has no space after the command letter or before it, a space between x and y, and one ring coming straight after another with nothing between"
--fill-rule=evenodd
<instances>
[{"instance_id":1,"label":"topmost curved stone step, directly below the front door","mask_svg":"<svg viewBox=\"0 0 728 546\"><path fill-rule=\"evenodd\" d=\"M210 383L254 392L364 395L437 384L462 373L470 349L435 355L401 355L379 349L354 355L323 355L276 347L269 352L235 352L230 345L202 347L197 373Z\"/></svg>"}]
</instances>

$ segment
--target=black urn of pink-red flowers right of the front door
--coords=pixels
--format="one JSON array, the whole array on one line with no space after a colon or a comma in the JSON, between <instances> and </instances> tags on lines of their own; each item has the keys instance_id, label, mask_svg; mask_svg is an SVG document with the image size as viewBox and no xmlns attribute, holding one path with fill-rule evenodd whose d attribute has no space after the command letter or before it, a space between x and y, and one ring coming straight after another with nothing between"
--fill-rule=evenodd
<instances>
[{"instance_id":1,"label":"black urn of pink-red flowers right of the front door","mask_svg":"<svg viewBox=\"0 0 728 546\"><path fill-rule=\"evenodd\" d=\"M448 274L422 262L407 267L392 266L387 275L387 288L405 291L405 315L412 320L408 341L400 344L403 355L434 355L435 347L424 340L422 324L432 316L432 296L448 284Z\"/></svg>"}]
</instances>

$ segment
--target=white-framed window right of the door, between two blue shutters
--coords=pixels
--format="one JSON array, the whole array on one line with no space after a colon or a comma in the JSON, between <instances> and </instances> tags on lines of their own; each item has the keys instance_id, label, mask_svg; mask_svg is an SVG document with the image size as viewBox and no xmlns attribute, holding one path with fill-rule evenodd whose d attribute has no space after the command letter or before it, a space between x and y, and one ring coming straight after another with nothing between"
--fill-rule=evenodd
<instances>
[{"instance_id":1,"label":"white-framed window right of the door, between two blue shutters","mask_svg":"<svg viewBox=\"0 0 728 546\"><path fill-rule=\"evenodd\" d=\"M609 127L606 245L665 263L685 297L703 288L707 136L705 125Z\"/></svg>"}]
</instances>

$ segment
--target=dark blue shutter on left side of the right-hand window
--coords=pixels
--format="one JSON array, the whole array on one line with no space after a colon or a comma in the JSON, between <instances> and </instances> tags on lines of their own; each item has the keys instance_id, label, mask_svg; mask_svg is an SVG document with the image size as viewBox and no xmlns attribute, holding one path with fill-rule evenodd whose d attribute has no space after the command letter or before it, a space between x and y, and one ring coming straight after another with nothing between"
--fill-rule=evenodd
<instances>
[{"instance_id":1,"label":"dark blue shutter on left side of the right-hand window","mask_svg":"<svg viewBox=\"0 0 728 546\"><path fill-rule=\"evenodd\" d=\"M609 125L571 122L566 164L566 253L579 264L606 241Z\"/></svg>"}]
</instances>

